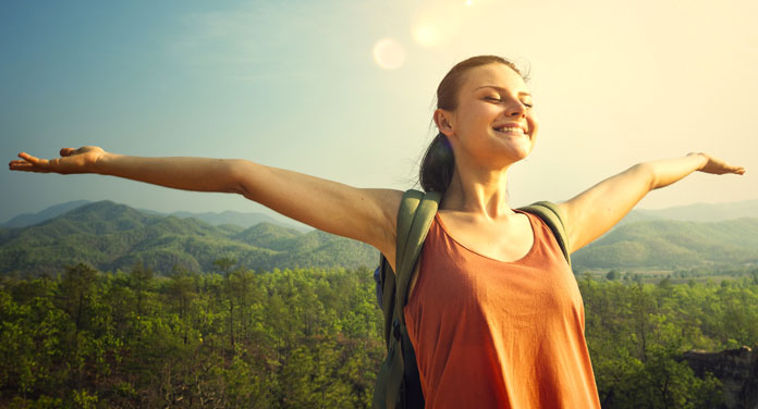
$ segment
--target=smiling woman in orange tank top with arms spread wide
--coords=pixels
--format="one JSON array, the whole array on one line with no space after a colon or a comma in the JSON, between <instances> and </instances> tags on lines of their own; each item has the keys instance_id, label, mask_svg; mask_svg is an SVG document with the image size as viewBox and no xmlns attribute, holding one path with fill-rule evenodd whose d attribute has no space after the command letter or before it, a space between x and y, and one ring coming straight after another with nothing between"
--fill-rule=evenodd
<instances>
[{"instance_id":1,"label":"smiling woman in orange tank top with arms spread wide","mask_svg":"<svg viewBox=\"0 0 758 409\"><path fill-rule=\"evenodd\" d=\"M549 230L508 203L510 166L538 121L516 67L481 55L438 88L439 135L421 165L443 193L405 317L429 407L599 407L578 288ZM316 228L367 243L394 268L402 191L363 189L244 160L136 158L97 147L20 153L14 171L98 173L236 193ZM648 191L701 171L743 174L705 153L634 165L559 203L570 251L607 232ZM301 198L308 200L301 200Z\"/></svg>"}]
</instances>

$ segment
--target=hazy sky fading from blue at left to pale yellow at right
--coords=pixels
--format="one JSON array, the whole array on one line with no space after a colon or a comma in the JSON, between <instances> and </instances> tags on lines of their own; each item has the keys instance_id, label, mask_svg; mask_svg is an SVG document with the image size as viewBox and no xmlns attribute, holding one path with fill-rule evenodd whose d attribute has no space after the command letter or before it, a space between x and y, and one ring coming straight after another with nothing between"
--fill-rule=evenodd
<instances>
[{"instance_id":1,"label":"hazy sky fading from blue at left to pale yellow at right","mask_svg":"<svg viewBox=\"0 0 758 409\"><path fill-rule=\"evenodd\" d=\"M529 72L537 146L512 206L705 151L640 208L758 199L758 2L282 0L0 2L0 150L243 158L406 189L440 79L477 54ZM0 222L71 200L268 212L242 197L96 175L0 173Z\"/></svg>"}]
</instances>

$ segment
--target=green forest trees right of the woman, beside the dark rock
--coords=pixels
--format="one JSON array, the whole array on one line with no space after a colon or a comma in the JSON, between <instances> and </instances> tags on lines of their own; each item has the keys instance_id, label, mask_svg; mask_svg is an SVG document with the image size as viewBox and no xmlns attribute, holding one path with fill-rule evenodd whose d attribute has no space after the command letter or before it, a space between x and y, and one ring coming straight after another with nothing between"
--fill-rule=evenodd
<instances>
[{"instance_id":1,"label":"green forest trees right of the woman, beside the dark rock","mask_svg":"<svg viewBox=\"0 0 758 409\"><path fill-rule=\"evenodd\" d=\"M603 407L712 408L721 383L682 352L758 346L758 286L579 281L587 344Z\"/></svg>"}]
</instances>

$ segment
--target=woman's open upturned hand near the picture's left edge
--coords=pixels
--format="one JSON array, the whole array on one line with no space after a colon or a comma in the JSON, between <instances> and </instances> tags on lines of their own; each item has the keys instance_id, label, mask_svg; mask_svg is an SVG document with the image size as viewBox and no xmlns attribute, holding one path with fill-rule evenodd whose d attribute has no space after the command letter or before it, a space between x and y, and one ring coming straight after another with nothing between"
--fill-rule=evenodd
<instances>
[{"instance_id":1,"label":"woman's open upturned hand near the picture's left edge","mask_svg":"<svg viewBox=\"0 0 758 409\"><path fill-rule=\"evenodd\" d=\"M26 152L9 163L11 171L38 173L96 173L97 162L106 156L106 151L96 146L84 146L78 149L63 148L61 157L56 159L39 159Z\"/></svg>"}]
</instances>

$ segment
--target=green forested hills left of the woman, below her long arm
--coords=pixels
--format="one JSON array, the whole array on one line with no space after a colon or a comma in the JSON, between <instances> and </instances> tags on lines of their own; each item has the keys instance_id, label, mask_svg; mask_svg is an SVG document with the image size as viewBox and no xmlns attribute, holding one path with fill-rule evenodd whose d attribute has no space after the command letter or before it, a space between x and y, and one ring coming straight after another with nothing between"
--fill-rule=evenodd
<instances>
[{"instance_id":1,"label":"green forested hills left of the woman, below her long arm","mask_svg":"<svg viewBox=\"0 0 758 409\"><path fill-rule=\"evenodd\" d=\"M196 219L160 216L111 201L88 203L40 224L0 228L0 271L38 274L87 262L101 271L136 263L157 272L174 265L215 271L221 258L246 269L371 267L378 252L320 231L260 223L212 226Z\"/></svg>"}]
</instances>

